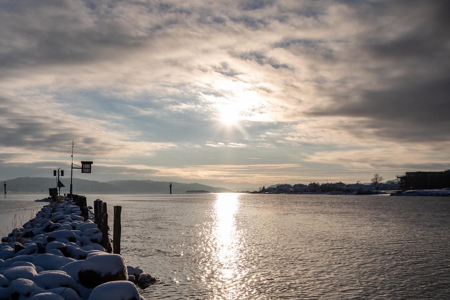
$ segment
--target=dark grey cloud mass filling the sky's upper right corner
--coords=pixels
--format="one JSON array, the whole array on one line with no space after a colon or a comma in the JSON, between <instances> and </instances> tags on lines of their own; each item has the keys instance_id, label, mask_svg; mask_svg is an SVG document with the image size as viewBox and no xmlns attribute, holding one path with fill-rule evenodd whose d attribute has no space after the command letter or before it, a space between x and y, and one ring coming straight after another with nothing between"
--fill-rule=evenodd
<instances>
[{"instance_id":1,"label":"dark grey cloud mass filling the sky's upper right corner","mask_svg":"<svg viewBox=\"0 0 450 300\"><path fill-rule=\"evenodd\" d=\"M351 52L356 64L364 56L363 71L377 85L338 91L331 95L335 102L311 114L355 118L358 121L346 130L371 130L385 139L448 141L450 21L445 12L450 3L394 1L391 6L386 2L379 13L388 9L397 20L372 35L358 36ZM389 31L398 27L402 32L389 38Z\"/></svg>"}]
</instances>

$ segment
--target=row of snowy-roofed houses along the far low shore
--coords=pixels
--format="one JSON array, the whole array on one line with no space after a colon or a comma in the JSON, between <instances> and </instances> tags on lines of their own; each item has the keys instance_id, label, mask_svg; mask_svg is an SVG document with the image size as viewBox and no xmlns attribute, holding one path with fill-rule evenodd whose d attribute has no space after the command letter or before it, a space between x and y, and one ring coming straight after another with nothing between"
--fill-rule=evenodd
<instances>
[{"instance_id":1,"label":"row of snowy-roofed houses along the far low shore","mask_svg":"<svg viewBox=\"0 0 450 300\"><path fill-rule=\"evenodd\" d=\"M369 193L370 191L392 191L397 190L398 184L344 184L336 183L310 183L306 184L274 184L265 189L268 193L329 193L329 192L359 192Z\"/></svg>"}]
</instances>

